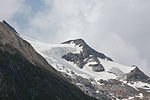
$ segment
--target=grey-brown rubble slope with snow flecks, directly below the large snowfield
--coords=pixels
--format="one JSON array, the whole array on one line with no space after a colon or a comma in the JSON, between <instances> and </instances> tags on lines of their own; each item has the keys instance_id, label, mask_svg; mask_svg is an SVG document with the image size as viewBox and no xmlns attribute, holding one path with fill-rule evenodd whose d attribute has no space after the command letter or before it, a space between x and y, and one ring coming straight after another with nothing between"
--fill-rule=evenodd
<instances>
[{"instance_id":1,"label":"grey-brown rubble slope with snow flecks, directly below the large snowfield","mask_svg":"<svg viewBox=\"0 0 150 100\"><path fill-rule=\"evenodd\" d=\"M116 98L121 100L140 93L135 88L116 79L101 79L98 81L100 83L100 85L98 85L92 84L92 82L95 82L94 79L85 79L77 75L72 78L65 73L62 74L66 77L66 79L76 84L86 94L95 97L98 100L116 100Z\"/></svg>"}]
</instances>

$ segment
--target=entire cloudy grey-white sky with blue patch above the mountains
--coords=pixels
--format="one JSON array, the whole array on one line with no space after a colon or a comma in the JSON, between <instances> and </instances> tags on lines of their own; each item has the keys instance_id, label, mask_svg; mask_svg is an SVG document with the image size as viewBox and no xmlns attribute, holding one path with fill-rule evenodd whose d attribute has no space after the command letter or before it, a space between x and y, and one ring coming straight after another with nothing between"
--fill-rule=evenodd
<instances>
[{"instance_id":1,"label":"entire cloudy grey-white sky with blue patch above the mountains","mask_svg":"<svg viewBox=\"0 0 150 100\"><path fill-rule=\"evenodd\" d=\"M0 19L46 43L83 38L150 76L150 0L0 0Z\"/></svg>"}]
</instances>

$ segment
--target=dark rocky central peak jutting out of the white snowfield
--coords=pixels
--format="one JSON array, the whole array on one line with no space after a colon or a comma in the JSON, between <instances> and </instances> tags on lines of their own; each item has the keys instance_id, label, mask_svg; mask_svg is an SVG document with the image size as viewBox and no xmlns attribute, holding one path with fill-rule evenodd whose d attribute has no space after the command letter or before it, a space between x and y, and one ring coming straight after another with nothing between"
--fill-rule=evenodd
<instances>
[{"instance_id":1,"label":"dark rocky central peak jutting out of the white snowfield","mask_svg":"<svg viewBox=\"0 0 150 100\"><path fill-rule=\"evenodd\" d=\"M111 58L109 58L109 57L105 56L104 54L99 53L99 52L95 51L94 49L92 49L91 47L89 47L82 39L76 39L76 40L70 40L70 41L63 42L63 44L70 44L70 43L74 43L75 45L82 47L83 51L80 52L79 54L78 53L75 53L75 54L68 53L68 54L62 56L62 58L66 59L67 61L74 62L80 68L83 68L83 66L85 64L92 61L92 62L97 63L97 64L90 65L92 67L92 70L96 71L96 72L100 72L100 71L104 71L105 69L102 66L102 64L100 64L100 61L98 60L98 58L113 61Z\"/></svg>"}]
</instances>

